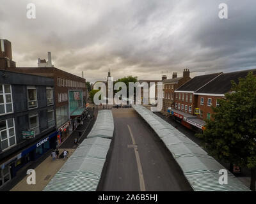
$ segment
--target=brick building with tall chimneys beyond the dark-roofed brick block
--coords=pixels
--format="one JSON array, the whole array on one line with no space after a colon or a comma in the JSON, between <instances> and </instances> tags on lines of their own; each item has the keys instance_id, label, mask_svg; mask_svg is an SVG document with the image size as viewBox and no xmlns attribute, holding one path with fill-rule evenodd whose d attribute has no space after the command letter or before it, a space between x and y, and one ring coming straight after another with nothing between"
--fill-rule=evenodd
<instances>
[{"instance_id":1,"label":"brick building with tall chimneys beyond the dark-roofed brick block","mask_svg":"<svg viewBox=\"0 0 256 204\"><path fill-rule=\"evenodd\" d=\"M177 77L177 73L173 72L172 78L163 80L163 112L170 112L174 108L173 102L175 98L175 90L181 85L188 82L191 78L189 77L189 69L184 69L183 76Z\"/></svg>"}]
</instances>

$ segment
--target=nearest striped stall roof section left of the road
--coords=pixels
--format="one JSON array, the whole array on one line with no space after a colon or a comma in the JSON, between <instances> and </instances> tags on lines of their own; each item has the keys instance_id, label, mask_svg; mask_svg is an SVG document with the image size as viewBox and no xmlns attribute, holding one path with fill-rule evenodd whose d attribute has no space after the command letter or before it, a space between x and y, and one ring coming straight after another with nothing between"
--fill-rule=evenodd
<instances>
[{"instance_id":1,"label":"nearest striped stall roof section left of the road","mask_svg":"<svg viewBox=\"0 0 256 204\"><path fill-rule=\"evenodd\" d=\"M43 191L96 191L111 140L85 139Z\"/></svg>"}]
</instances>

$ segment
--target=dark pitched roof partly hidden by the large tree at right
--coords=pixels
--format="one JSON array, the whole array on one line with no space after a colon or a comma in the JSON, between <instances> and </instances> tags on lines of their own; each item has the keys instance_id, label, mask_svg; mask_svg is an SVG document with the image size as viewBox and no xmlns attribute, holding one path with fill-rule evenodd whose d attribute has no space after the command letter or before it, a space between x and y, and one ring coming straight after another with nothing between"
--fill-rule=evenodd
<instances>
[{"instance_id":1,"label":"dark pitched roof partly hidden by the large tree at right","mask_svg":"<svg viewBox=\"0 0 256 204\"><path fill-rule=\"evenodd\" d=\"M250 71L256 75L256 69L223 73L195 93L226 94L231 89L231 80L234 80L237 84L239 82L239 78L245 78Z\"/></svg>"}]
</instances>

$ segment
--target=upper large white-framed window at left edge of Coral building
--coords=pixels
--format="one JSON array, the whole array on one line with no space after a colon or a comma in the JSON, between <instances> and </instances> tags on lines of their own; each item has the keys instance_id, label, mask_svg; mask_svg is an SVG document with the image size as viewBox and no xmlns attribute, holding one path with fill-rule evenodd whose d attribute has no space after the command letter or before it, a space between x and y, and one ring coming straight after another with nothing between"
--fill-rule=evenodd
<instances>
[{"instance_id":1,"label":"upper large white-framed window at left edge of Coral building","mask_svg":"<svg viewBox=\"0 0 256 204\"><path fill-rule=\"evenodd\" d=\"M8 84L0 84L0 115L12 112L12 87Z\"/></svg>"}]
</instances>

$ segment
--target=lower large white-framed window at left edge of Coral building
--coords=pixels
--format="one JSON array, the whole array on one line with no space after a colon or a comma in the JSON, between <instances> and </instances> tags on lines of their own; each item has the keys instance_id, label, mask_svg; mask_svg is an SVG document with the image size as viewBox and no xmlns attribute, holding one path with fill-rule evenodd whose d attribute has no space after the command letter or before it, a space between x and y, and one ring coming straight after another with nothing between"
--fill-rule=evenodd
<instances>
[{"instance_id":1,"label":"lower large white-framed window at left edge of Coral building","mask_svg":"<svg viewBox=\"0 0 256 204\"><path fill-rule=\"evenodd\" d=\"M0 135L2 150L16 145L14 119L0 121Z\"/></svg>"}]
</instances>

